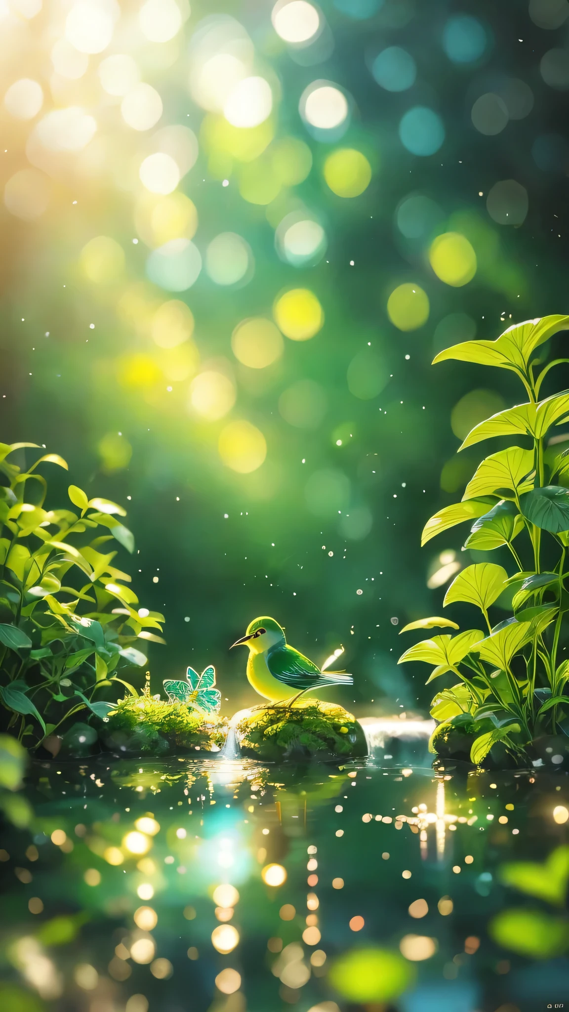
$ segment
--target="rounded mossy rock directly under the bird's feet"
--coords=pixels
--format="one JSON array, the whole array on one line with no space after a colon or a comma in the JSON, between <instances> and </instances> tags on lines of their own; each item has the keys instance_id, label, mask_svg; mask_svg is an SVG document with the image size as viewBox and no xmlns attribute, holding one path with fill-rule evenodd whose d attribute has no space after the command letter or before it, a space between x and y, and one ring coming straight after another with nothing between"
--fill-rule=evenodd
<instances>
[{"instance_id":1,"label":"rounded mossy rock directly under the bird's feet","mask_svg":"<svg viewBox=\"0 0 569 1012\"><path fill-rule=\"evenodd\" d=\"M299 699L255 706L236 727L244 756L264 762L351 759L368 755L363 729L343 706Z\"/></svg>"}]
</instances>

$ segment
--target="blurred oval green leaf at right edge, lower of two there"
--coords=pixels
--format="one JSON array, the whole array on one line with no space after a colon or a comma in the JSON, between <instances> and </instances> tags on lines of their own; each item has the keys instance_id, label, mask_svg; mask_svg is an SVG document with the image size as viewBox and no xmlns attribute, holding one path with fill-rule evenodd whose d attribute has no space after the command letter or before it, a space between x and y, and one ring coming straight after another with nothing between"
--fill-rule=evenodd
<instances>
[{"instance_id":1,"label":"blurred oval green leaf at right edge, lower of two there","mask_svg":"<svg viewBox=\"0 0 569 1012\"><path fill-rule=\"evenodd\" d=\"M488 933L502 948L534 959L562 955L569 946L566 918L551 917L541 910L523 907L500 911L490 921Z\"/></svg>"}]
</instances>

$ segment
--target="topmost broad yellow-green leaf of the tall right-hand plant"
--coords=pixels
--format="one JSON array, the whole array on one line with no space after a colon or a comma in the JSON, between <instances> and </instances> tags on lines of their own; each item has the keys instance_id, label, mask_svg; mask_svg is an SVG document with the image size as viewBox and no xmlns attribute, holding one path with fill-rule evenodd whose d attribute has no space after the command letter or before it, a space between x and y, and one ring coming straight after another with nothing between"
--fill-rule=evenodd
<instances>
[{"instance_id":1,"label":"topmost broad yellow-green leaf of the tall right-hand plant","mask_svg":"<svg viewBox=\"0 0 569 1012\"><path fill-rule=\"evenodd\" d=\"M525 320L512 324L495 341L465 341L452 348L439 351L433 359L442 362L456 358L463 362L478 362L480 365L497 365L514 372L527 373L532 354L559 330L569 328L569 317L547 316L537 320Z\"/></svg>"}]
</instances>

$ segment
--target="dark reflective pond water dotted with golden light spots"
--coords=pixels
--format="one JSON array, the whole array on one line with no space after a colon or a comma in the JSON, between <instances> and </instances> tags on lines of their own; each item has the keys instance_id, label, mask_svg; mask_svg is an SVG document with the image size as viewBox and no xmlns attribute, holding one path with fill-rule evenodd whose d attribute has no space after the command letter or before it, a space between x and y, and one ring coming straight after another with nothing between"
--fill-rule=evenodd
<instances>
[{"instance_id":1,"label":"dark reflective pond water dotted with golden light spots","mask_svg":"<svg viewBox=\"0 0 569 1012\"><path fill-rule=\"evenodd\" d=\"M34 763L0 853L3 1009L562 1007L567 775L433 769L385 734L344 765Z\"/></svg>"}]
</instances>

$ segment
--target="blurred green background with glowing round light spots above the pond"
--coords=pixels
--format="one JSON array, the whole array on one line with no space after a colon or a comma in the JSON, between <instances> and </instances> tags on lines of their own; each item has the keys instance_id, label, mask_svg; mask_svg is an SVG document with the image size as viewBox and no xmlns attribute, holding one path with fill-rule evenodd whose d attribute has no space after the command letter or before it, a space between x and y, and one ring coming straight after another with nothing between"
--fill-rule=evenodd
<instances>
[{"instance_id":1,"label":"blurred green background with glowing round light spots above the pond","mask_svg":"<svg viewBox=\"0 0 569 1012\"><path fill-rule=\"evenodd\" d=\"M345 647L356 713L430 699L395 619L472 554L420 530L521 393L430 362L566 311L568 14L1 8L1 438L68 460L50 506L69 481L128 506L153 691L213 663L224 710L252 702L228 648L269 614Z\"/></svg>"}]
</instances>

